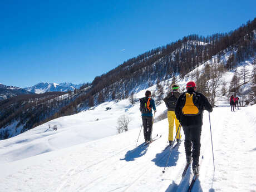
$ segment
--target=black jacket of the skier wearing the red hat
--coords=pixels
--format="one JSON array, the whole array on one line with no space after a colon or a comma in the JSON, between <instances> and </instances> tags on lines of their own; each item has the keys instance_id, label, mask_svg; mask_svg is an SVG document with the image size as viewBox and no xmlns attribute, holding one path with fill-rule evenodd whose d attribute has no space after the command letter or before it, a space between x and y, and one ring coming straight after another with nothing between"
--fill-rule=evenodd
<instances>
[{"instance_id":1,"label":"black jacket of the skier wearing the red hat","mask_svg":"<svg viewBox=\"0 0 256 192\"><path fill-rule=\"evenodd\" d=\"M185 105L186 101L186 92L182 93L179 96L178 101L175 106L175 115L177 119L180 121L182 126L190 126L190 125L203 125L203 110L207 110L209 112L213 111L213 107L209 103L208 99L200 92L195 92L196 101L193 102L199 109L199 115L195 116L185 116L183 115L182 108Z\"/></svg>"}]
</instances>

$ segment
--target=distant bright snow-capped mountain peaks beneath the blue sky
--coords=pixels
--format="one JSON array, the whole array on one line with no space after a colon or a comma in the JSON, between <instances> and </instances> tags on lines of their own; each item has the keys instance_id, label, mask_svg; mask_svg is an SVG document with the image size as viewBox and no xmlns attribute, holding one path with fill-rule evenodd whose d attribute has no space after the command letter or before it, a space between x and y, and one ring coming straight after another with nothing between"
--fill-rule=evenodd
<instances>
[{"instance_id":1,"label":"distant bright snow-capped mountain peaks beneath the blue sky","mask_svg":"<svg viewBox=\"0 0 256 192\"><path fill-rule=\"evenodd\" d=\"M45 93L45 92L53 92L53 91L73 91L76 88L80 88L83 84L75 85L73 83L63 82L63 83L37 83L32 87L26 87L25 90L33 93Z\"/></svg>"}]
</instances>

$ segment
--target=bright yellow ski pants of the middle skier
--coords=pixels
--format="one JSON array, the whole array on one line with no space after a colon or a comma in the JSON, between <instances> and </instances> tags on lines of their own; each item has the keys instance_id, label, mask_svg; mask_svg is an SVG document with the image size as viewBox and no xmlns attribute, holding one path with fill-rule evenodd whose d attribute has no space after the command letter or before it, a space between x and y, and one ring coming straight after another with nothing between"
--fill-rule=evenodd
<instances>
[{"instance_id":1,"label":"bright yellow ski pants of the middle skier","mask_svg":"<svg viewBox=\"0 0 256 192\"><path fill-rule=\"evenodd\" d=\"M167 111L167 117L168 117L168 122L169 122L169 136L168 136L168 140L169 140L169 141L173 141L174 120L175 120L175 126L176 126L175 135L176 135L176 132L178 131L180 122L179 122L179 120L176 118L176 115L175 115L175 112L174 112L174 111ZM177 136L176 136L176 139L180 139L180 138L181 138L181 136L180 136L180 130L181 130L181 127L180 127L179 132L178 132L178 134L177 134Z\"/></svg>"}]
</instances>

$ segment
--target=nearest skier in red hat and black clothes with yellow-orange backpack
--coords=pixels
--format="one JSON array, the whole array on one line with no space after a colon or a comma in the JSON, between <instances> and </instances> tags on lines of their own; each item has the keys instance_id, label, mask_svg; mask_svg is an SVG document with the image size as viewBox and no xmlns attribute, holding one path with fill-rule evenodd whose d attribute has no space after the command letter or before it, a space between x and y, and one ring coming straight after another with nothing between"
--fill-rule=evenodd
<instances>
[{"instance_id":1,"label":"nearest skier in red hat and black clothes with yellow-orange backpack","mask_svg":"<svg viewBox=\"0 0 256 192\"><path fill-rule=\"evenodd\" d=\"M186 84L186 92L179 96L176 103L175 114L180 121L185 134L185 152L186 161L191 163L193 157L193 173L199 174L199 156L200 156L200 137L201 126L203 125L203 110L213 111L206 97L195 91L196 84L194 81L189 81ZM193 150L191 151L191 148Z\"/></svg>"}]
</instances>

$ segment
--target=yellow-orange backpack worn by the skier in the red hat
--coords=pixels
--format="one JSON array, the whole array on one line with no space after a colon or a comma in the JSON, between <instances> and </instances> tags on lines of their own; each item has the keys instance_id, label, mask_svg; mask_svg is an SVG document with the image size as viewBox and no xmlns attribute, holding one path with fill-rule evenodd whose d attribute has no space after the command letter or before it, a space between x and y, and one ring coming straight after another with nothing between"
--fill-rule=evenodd
<instances>
[{"instance_id":1,"label":"yellow-orange backpack worn by the skier in the red hat","mask_svg":"<svg viewBox=\"0 0 256 192\"><path fill-rule=\"evenodd\" d=\"M193 102L193 95L194 93L192 95L186 93L185 105L182 108L183 115L185 116L194 116L199 114L199 109L195 106Z\"/></svg>"}]
</instances>

